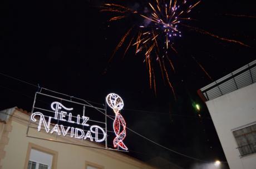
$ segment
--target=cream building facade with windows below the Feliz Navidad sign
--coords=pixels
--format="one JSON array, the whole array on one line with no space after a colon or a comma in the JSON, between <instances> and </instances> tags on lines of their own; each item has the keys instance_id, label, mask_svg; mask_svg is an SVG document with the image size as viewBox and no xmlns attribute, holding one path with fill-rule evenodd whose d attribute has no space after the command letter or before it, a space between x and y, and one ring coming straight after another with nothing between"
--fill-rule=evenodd
<instances>
[{"instance_id":1,"label":"cream building facade with windows below the Feliz Navidad sign","mask_svg":"<svg viewBox=\"0 0 256 169\"><path fill-rule=\"evenodd\" d=\"M13 111L13 112L12 112ZM9 113L11 112L11 113ZM88 148L72 144L53 142L27 137L26 131L29 114L12 108L1 113L10 114L8 120L0 122L0 168L3 169L153 169L144 162L136 160L124 153L102 150L100 145L86 141ZM51 138L50 133L30 129L32 134L41 138ZM73 138L69 142L76 143Z\"/></svg>"}]
</instances>

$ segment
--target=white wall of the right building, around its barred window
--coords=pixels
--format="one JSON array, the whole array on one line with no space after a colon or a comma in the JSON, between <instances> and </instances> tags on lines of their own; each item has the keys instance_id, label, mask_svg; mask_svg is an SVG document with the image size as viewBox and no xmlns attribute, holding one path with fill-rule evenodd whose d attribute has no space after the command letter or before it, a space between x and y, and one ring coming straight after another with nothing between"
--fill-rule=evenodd
<instances>
[{"instance_id":1,"label":"white wall of the right building, around its barred window","mask_svg":"<svg viewBox=\"0 0 256 169\"><path fill-rule=\"evenodd\" d=\"M231 169L255 169L256 153L239 157L232 130L256 121L256 83L206 102Z\"/></svg>"}]
</instances>

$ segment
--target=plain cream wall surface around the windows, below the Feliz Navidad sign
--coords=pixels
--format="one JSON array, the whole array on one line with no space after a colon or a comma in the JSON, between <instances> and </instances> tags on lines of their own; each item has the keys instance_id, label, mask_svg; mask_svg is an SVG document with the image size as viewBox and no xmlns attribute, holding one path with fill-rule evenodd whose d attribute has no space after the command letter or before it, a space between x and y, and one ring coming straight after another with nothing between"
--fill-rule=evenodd
<instances>
[{"instance_id":1,"label":"plain cream wall surface around the windows, below the Feliz Navidad sign","mask_svg":"<svg viewBox=\"0 0 256 169\"><path fill-rule=\"evenodd\" d=\"M119 152L26 137L28 119L28 115L16 111L12 121L9 121L12 129L8 133L8 143L4 147L6 153L1 161L2 169L24 168L29 143L58 152L57 169L84 169L86 161L104 166L104 169L155 169ZM38 132L33 128L29 129L29 133L35 137L55 139L54 135ZM87 142L92 144L91 146L97 146L95 143Z\"/></svg>"}]
</instances>

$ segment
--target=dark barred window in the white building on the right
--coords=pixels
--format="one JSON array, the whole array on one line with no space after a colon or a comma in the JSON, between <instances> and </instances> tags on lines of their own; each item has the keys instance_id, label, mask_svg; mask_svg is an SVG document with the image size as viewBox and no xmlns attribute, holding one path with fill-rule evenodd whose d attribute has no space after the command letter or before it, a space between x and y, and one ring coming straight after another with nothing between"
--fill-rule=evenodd
<instances>
[{"instance_id":1,"label":"dark barred window in the white building on the right","mask_svg":"<svg viewBox=\"0 0 256 169\"><path fill-rule=\"evenodd\" d=\"M240 156L256 153L256 124L233 131Z\"/></svg>"}]
</instances>

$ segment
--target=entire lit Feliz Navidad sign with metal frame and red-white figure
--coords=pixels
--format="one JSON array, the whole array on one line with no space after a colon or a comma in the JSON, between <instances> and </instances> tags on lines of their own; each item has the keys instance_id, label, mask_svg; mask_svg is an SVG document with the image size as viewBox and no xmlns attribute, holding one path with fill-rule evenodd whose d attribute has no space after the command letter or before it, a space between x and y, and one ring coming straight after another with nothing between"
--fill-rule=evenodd
<instances>
[{"instance_id":1,"label":"entire lit Feliz Navidad sign with metal frame and red-white figure","mask_svg":"<svg viewBox=\"0 0 256 169\"><path fill-rule=\"evenodd\" d=\"M106 105L114 111L115 119L107 114ZM80 98L42 88L35 95L27 137L87 147L86 141L95 141L105 143L104 149L107 150L127 151L124 143L126 123L120 114L124 101L120 96L110 93L106 97L106 105L94 106ZM111 122L114 131L107 130L107 122ZM50 135L37 135L30 128ZM114 148L108 146L107 138L113 139L111 147ZM103 148L96 145L89 147Z\"/></svg>"}]
</instances>

